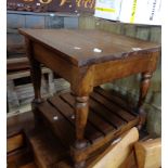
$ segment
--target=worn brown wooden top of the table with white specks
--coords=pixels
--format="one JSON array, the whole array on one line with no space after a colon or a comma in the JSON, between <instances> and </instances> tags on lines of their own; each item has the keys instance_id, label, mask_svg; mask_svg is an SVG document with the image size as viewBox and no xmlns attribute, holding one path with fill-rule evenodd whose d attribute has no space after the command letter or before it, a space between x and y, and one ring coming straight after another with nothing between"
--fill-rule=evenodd
<instances>
[{"instance_id":1,"label":"worn brown wooden top of the table with white specks","mask_svg":"<svg viewBox=\"0 0 168 168\"><path fill-rule=\"evenodd\" d=\"M141 52L160 50L160 44L157 43L95 29L22 28L20 33L60 53L59 56L76 66L120 60L135 56Z\"/></svg>"}]
</instances>

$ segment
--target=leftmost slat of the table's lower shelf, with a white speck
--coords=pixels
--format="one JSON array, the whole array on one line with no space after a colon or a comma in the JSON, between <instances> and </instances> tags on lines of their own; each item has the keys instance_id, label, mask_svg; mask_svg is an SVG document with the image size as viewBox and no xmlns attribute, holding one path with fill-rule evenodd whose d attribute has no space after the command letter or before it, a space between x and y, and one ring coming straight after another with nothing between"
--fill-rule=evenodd
<instances>
[{"instance_id":1,"label":"leftmost slat of the table's lower shelf, with a white speck","mask_svg":"<svg viewBox=\"0 0 168 168\"><path fill-rule=\"evenodd\" d=\"M70 122L68 122L66 118L48 102L40 104L38 108L47 118L49 125L52 127L52 130L62 140L64 145L69 146L73 144L75 141L75 132ZM53 119L54 117L55 120Z\"/></svg>"}]
</instances>

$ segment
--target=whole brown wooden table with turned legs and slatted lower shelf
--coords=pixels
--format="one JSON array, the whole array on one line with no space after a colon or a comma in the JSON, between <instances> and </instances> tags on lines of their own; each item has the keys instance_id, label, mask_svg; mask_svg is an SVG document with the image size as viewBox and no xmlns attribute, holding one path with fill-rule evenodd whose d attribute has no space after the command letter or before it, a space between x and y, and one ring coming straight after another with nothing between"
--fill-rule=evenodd
<instances>
[{"instance_id":1,"label":"whole brown wooden table with turned legs and slatted lower shelf","mask_svg":"<svg viewBox=\"0 0 168 168\"><path fill-rule=\"evenodd\" d=\"M75 167L85 167L85 160L93 151L144 122L143 115L135 115L120 99L100 88L94 90L94 87L141 73L137 109L142 114L141 107L156 69L160 46L101 30L20 29L20 33L25 36L31 64L34 112L38 109L35 116L39 118L42 114L52 122L51 129L70 145ZM72 93L43 102L40 63L69 81ZM117 103L113 103L112 99ZM73 131L75 138L70 139Z\"/></svg>"}]
</instances>

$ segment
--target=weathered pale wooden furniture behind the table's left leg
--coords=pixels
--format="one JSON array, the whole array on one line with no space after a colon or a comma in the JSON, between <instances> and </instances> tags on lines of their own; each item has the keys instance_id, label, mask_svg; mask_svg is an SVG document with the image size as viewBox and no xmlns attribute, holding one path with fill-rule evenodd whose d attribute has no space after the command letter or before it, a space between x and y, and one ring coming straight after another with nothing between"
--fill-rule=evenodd
<instances>
[{"instance_id":1,"label":"weathered pale wooden furniture behind the table's left leg","mask_svg":"<svg viewBox=\"0 0 168 168\"><path fill-rule=\"evenodd\" d=\"M7 61L7 93L9 115L30 111L34 89L30 80L29 62L27 57L9 59ZM41 92L44 98L55 92L53 72L42 67Z\"/></svg>"}]
</instances>

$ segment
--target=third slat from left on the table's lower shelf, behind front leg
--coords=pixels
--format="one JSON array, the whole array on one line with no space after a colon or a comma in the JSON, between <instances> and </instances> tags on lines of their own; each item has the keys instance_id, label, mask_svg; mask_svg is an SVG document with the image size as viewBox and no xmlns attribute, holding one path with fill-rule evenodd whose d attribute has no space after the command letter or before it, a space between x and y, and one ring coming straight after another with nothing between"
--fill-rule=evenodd
<instances>
[{"instance_id":1,"label":"third slat from left on the table's lower shelf, behind front leg","mask_svg":"<svg viewBox=\"0 0 168 168\"><path fill-rule=\"evenodd\" d=\"M64 99L67 103L69 103L72 107L74 107L75 99L70 93L64 93L61 95L61 98ZM91 109L88 116L88 120L104 134L107 134L115 129L112 125L105 122L99 115L93 114Z\"/></svg>"}]
</instances>

